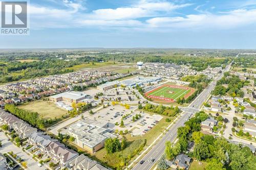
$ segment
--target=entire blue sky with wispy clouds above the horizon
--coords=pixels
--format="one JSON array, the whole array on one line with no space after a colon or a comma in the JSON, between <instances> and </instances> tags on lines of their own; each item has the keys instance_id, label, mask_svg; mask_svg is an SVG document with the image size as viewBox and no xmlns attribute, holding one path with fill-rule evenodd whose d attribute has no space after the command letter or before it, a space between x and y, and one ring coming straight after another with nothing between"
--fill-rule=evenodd
<instances>
[{"instance_id":1,"label":"entire blue sky with wispy clouds above the horizon","mask_svg":"<svg viewBox=\"0 0 256 170\"><path fill-rule=\"evenodd\" d=\"M256 1L30 0L30 35L0 48L256 48Z\"/></svg>"}]
</instances>

